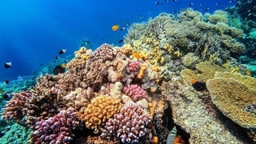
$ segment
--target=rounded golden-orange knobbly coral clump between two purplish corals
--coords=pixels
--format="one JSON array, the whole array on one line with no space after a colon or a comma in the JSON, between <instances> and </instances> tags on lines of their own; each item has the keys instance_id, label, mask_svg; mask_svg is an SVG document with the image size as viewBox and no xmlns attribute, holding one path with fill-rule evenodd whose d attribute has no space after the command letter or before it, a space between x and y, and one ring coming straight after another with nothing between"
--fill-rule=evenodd
<instances>
[{"instance_id":1,"label":"rounded golden-orange knobbly coral clump between two purplish corals","mask_svg":"<svg viewBox=\"0 0 256 144\"><path fill-rule=\"evenodd\" d=\"M86 122L87 128L93 129L97 134L105 122L121 108L122 102L119 98L99 95L86 107L83 121Z\"/></svg>"}]
</instances>

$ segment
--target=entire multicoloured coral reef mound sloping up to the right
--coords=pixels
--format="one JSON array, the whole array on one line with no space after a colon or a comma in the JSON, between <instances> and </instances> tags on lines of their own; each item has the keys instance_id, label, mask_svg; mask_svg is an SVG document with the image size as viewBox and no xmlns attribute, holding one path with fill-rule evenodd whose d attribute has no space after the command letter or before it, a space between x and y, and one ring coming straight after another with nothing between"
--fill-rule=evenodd
<instances>
[{"instance_id":1,"label":"entire multicoloured coral reef mound sloping up to the right","mask_svg":"<svg viewBox=\"0 0 256 144\"><path fill-rule=\"evenodd\" d=\"M33 130L31 143L165 143L174 125L190 143L256 141L256 79L232 57L242 37L222 10L159 14L122 47L75 51L64 73L15 93L2 119Z\"/></svg>"}]
</instances>

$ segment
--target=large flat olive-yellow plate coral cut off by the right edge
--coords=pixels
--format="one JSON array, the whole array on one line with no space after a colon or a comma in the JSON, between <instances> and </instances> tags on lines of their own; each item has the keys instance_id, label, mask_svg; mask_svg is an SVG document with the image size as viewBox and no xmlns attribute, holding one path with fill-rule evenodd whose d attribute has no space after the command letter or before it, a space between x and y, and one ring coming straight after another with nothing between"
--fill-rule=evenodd
<instances>
[{"instance_id":1,"label":"large flat olive-yellow plate coral cut off by the right edge","mask_svg":"<svg viewBox=\"0 0 256 144\"><path fill-rule=\"evenodd\" d=\"M206 86L214 105L226 117L247 129L256 128L256 117L244 110L245 106L256 102L255 89L234 78L213 78L206 82Z\"/></svg>"}]
</instances>

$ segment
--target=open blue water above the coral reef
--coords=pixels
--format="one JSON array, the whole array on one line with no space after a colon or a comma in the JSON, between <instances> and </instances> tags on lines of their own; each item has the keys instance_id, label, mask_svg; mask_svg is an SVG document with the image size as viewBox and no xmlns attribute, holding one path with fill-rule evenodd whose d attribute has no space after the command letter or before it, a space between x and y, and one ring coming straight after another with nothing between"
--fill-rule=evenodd
<instances>
[{"instance_id":1,"label":"open blue water above the coral reef","mask_svg":"<svg viewBox=\"0 0 256 144\"><path fill-rule=\"evenodd\" d=\"M189 6L191 2L193 6ZM202 13L210 8L208 12L213 13L234 5L229 0L2 0L0 81L37 74L58 56L59 50L67 50L62 58L73 54L83 38L92 42L93 49L105 42L122 46L118 41L127 33L124 21L143 22L161 12L173 14L174 10L187 7ZM126 29L112 31L113 25ZM5 69L6 62L12 62L13 66Z\"/></svg>"}]
</instances>

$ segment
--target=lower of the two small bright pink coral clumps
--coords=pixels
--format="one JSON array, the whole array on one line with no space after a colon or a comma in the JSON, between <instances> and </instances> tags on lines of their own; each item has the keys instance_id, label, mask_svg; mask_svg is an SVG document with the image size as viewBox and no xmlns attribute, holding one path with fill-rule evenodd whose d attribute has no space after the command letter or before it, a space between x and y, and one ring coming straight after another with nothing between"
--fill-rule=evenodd
<instances>
[{"instance_id":1,"label":"lower of the two small bright pink coral clumps","mask_svg":"<svg viewBox=\"0 0 256 144\"><path fill-rule=\"evenodd\" d=\"M123 92L130 96L134 102L142 98L147 98L146 90L142 89L140 86L136 85L127 85L123 88Z\"/></svg>"}]
</instances>

